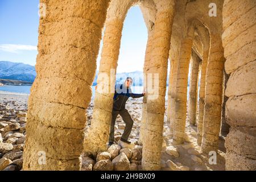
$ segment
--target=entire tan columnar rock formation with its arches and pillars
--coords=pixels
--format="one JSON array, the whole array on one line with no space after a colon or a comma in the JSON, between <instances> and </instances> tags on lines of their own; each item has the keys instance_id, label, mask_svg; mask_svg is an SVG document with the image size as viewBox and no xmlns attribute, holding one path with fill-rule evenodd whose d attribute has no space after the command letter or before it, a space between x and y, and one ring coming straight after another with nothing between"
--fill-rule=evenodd
<instances>
[{"instance_id":1,"label":"entire tan columnar rock formation with its arches and pillars","mask_svg":"<svg viewBox=\"0 0 256 182\"><path fill-rule=\"evenodd\" d=\"M186 140L188 119L189 127L197 129L203 155L209 157L210 151L219 152L220 129L221 125L225 129L226 121L231 127L225 130L226 169L256 169L254 0L41 2L47 14L40 18L24 170L79 170L82 151L96 156L106 150L123 22L135 5L141 8L148 31L143 68L147 94L139 138L142 169L160 169L168 59L167 122L172 144ZM85 129L104 23L93 119ZM41 165L43 158L47 163Z\"/></svg>"}]
</instances>

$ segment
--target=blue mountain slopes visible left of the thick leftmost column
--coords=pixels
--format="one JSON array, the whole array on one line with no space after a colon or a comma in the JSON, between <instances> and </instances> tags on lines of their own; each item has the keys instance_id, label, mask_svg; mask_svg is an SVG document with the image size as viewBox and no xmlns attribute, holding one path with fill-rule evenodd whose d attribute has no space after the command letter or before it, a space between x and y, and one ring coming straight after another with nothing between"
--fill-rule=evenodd
<instances>
[{"instance_id":1,"label":"blue mountain slopes visible left of the thick leftmost column","mask_svg":"<svg viewBox=\"0 0 256 182\"><path fill-rule=\"evenodd\" d=\"M0 61L0 78L33 82L36 77L35 67L23 63Z\"/></svg>"}]
</instances>

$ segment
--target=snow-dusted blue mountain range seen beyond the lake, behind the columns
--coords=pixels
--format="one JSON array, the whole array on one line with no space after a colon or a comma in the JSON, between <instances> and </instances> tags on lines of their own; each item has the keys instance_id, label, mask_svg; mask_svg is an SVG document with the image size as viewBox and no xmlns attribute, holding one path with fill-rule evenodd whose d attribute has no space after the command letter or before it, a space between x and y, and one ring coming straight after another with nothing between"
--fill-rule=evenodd
<instances>
[{"instance_id":1,"label":"snow-dusted blue mountain range seen beyond the lake, behind the columns","mask_svg":"<svg viewBox=\"0 0 256 182\"><path fill-rule=\"evenodd\" d=\"M133 78L133 86L143 85L143 72L125 72L117 73L115 78L117 83L122 83L126 77ZM36 77L35 67L23 63L13 63L10 61L0 61L0 79L6 80L20 80L33 82ZM96 77L94 78L93 85L97 84L98 71L96 72ZM168 76L167 76L168 84Z\"/></svg>"}]
</instances>

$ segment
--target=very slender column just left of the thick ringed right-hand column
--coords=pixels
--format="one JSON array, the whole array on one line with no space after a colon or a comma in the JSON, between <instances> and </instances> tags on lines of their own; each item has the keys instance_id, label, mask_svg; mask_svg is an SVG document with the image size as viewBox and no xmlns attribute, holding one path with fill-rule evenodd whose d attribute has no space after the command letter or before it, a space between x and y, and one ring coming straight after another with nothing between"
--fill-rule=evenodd
<instances>
[{"instance_id":1,"label":"very slender column just left of the thick ringed right-hand column","mask_svg":"<svg viewBox=\"0 0 256 182\"><path fill-rule=\"evenodd\" d=\"M205 74L207 71L209 48L204 48L203 60L201 65L201 78L199 88L199 117L197 122L197 144L201 146L203 136L203 119L204 119L204 97L205 97Z\"/></svg>"}]
</instances>

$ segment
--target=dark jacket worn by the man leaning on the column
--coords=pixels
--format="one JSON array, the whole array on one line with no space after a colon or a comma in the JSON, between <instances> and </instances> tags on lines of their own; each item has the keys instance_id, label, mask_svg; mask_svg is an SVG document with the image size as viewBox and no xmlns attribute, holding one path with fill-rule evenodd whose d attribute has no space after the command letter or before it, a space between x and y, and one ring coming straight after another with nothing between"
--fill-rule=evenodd
<instances>
[{"instance_id":1,"label":"dark jacket worn by the man leaning on the column","mask_svg":"<svg viewBox=\"0 0 256 182\"><path fill-rule=\"evenodd\" d=\"M129 97L139 98L139 97L143 97L143 94L132 93L131 88L127 88L124 84L115 85L113 109L114 110L125 109L125 104Z\"/></svg>"}]
</instances>

